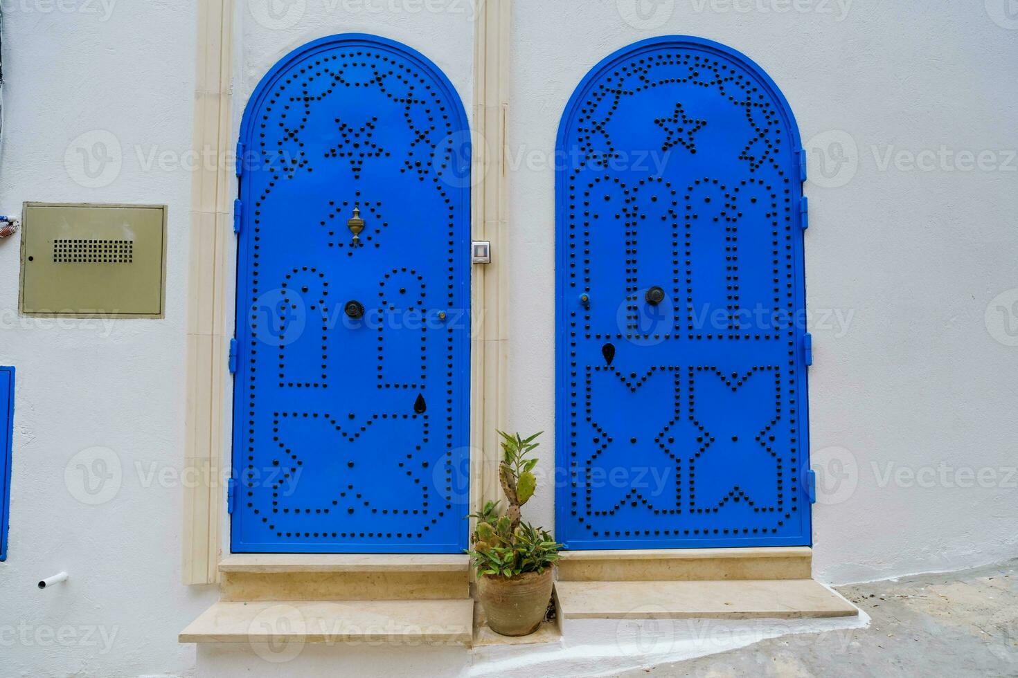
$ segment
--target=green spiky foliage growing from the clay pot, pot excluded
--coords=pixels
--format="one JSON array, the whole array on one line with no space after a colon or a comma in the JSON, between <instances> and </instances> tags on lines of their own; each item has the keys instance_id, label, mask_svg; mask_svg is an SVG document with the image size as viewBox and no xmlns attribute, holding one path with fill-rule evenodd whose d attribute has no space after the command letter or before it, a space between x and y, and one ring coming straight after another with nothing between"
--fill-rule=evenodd
<instances>
[{"instance_id":1,"label":"green spiky foliage growing from the clay pot, pot excluded","mask_svg":"<svg viewBox=\"0 0 1018 678\"><path fill-rule=\"evenodd\" d=\"M501 502L489 501L485 507L467 517L477 519L470 535L471 548L467 551L478 574L513 577L527 572L544 572L559 559L561 544L543 528L523 522L520 507L533 496L538 479L533 475L536 457L525 458L533 450L541 432L529 438L517 433L502 436L502 460L499 464L499 481L509 507L503 514Z\"/></svg>"}]
</instances>

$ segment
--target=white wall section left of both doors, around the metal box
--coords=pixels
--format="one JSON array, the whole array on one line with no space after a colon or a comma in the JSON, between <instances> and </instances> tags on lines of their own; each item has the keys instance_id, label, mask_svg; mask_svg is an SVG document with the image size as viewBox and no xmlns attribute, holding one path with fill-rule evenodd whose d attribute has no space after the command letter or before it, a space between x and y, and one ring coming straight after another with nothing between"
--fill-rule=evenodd
<instances>
[{"instance_id":1,"label":"white wall section left of both doors, around the metal box","mask_svg":"<svg viewBox=\"0 0 1018 678\"><path fill-rule=\"evenodd\" d=\"M190 175L148 165L190 147L190 4L2 5L0 211L169 205L165 320L19 318L19 238L0 242L0 364L17 368L4 675L182 672L194 651L174 635L216 599L179 583ZM110 451L75 457L96 446ZM36 589L60 570L67 583Z\"/></svg>"}]
</instances>

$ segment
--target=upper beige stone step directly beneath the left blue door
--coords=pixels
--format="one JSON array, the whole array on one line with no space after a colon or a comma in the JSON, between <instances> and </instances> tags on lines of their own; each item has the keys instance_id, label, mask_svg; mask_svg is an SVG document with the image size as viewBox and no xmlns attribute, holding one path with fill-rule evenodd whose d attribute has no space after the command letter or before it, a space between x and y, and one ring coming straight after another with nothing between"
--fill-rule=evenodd
<instances>
[{"instance_id":1,"label":"upper beige stone step directly beneath the left blue door","mask_svg":"<svg viewBox=\"0 0 1018 678\"><path fill-rule=\"evenodd\" d=\"M466 554L232 554L219 572L227 602L470 597Z\"/></svg>"}]
</instances>

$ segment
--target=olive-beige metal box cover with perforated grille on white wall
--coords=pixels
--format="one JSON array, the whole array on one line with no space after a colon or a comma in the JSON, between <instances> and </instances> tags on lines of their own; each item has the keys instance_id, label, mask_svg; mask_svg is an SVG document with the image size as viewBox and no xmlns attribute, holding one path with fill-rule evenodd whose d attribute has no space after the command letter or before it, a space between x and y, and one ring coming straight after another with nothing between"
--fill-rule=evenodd
<instances>
[{"instance_id":1,"label":"olive-beige metal box cover with perforated grille on white wall","mask_svg":"<svg viewBox=\"0 0 1018 678\"><path fill-rule=\"evenodd\" d=\"M161 318L166 206L24 203L24 315Z\"/></svg>"}]
</instances>

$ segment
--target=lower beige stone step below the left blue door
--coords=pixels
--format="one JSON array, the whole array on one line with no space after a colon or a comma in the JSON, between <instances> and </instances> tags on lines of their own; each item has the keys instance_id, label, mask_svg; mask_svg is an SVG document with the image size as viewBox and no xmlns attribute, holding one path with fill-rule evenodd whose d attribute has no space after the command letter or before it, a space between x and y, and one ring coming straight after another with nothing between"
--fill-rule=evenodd
<instances>
[{"instance_id":1,"label":"lower beige stone step below the left blue door","mask_svg":"<svg viewBox=\"0 0 1018 678\"><path fill-rule=\"evenodd\" d=\"M469 644L473 601L220 601L180 642Z\"/></svg>"}]
</instances>

